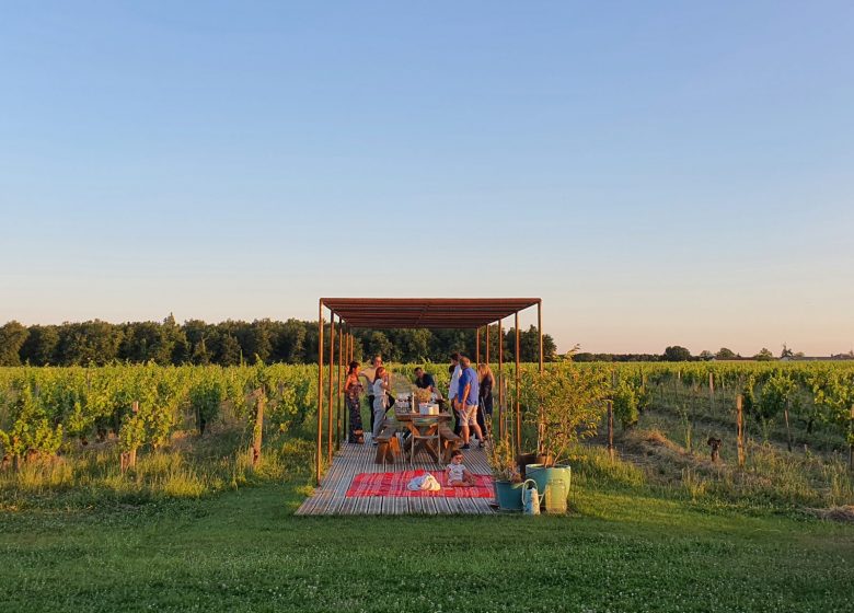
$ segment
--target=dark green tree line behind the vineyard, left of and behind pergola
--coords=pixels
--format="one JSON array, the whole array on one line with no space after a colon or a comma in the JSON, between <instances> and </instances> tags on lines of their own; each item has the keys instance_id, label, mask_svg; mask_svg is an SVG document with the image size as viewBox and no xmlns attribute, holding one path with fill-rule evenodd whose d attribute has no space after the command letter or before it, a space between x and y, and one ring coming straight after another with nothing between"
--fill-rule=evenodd
<instances>
[{"instance_id":1,"label":"dark green tree line behind the vineyard, left of and behind pergola","mask_svg":"<svg viewBox=\"0 0 854 613\"><path fill-rule=\"evenodd\" d=\"M453 351L474 356L475 331L471 329L355 329L357 360L381 354L386 361L443 362ZM328 347L328 324L326 347ZM505 361L515 359L516 331L504 333ZM482 351L485 350L482 333ZM498 356L498 329L489 331L492 355ZM521 361L540 356L535 326L520 331ZM547 361L557 358L554 339L543 335ZM327 359L327 356L324 356ZM158 365L313 363L318 361L318 322L226 321L209 324L170 315L162 322L113 324L100 320L60 325L25 326L11 321L0 327L0 366L103 366L113 362Z\"/></svg>"}]
</instances>

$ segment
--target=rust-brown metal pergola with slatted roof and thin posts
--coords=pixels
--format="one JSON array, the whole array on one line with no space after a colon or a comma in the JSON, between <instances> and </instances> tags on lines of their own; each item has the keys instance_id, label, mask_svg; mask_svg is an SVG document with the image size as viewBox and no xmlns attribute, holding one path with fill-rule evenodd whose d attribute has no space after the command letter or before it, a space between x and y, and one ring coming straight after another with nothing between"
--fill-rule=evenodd
<instances>
[{"instance_id":1,"label":"rust-brown metal pergola with slatted roof and thin posts","mask_svg":"<svg viewBox=\"0 0 854 613\"><path fill-rule=\"evenodd\" d=\"M503 410L505 407L504 381L504 332L503 321L515 316L516 328L516 390L515 390L515 439L517 452L521 451L522 424L519 396L519 312L536 307L536 327L540 337L540 372L543 372L543 302L540 298L321 298L318 313L318 454L315 475L320 483L323 443L326 441L326 458L332 464L333 442L342 440L342 393L344 365L353 360L355 328L458 328L476 331L475 361L481 362L481 329L486 328L485 360L489 363L489 327L498 326L498 424L499 436L505 436ZM323 332L324 307L330 311L330 356L328 394L324 406L323 385ZM335 342L338 317L338 393L335 415L333 416L333 389L335 372ZM324 437L323 416L326 414L326 436ZM334 421L334 428L333 428ZM346 430L346 428L345 428ZM333 431L335 437L333 437Z\"/></svg>"}]
</instances>

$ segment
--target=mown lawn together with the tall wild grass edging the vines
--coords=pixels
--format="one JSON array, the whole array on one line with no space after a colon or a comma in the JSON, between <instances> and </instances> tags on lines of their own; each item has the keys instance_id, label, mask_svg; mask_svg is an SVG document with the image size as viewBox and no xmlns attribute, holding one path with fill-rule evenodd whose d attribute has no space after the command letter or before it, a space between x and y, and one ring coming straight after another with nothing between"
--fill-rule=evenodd
<instances>
[{"instance_id":1,"label":"mown lawn together with the tall wild grass edging the vines","mask_svg":"<svg viewBox=\"0 0 854 613\"><path fill-rule=\"evenodd\" d=\"M854 523L804 509L850 504L844 465L755 446L713 466L681 427L646 415L632 461L576 449L567 517L296 517L293 435L255 470L227 429L124 475L109 447L24 464L0 473L0 611L850 612Z\"/></svg>"}]
</instances>

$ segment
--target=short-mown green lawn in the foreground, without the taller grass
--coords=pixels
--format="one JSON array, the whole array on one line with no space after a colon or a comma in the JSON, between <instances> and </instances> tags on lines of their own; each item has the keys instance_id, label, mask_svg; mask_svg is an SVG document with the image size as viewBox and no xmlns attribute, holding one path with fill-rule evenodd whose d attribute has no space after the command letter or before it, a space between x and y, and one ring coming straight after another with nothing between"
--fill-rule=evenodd
<instances>
[{"instance_id":1,"label":"short-mown green lawn in the foreground, without the taller grass","mask_svg":"<svg viewBox=\"0 0 854 613\"><path fill-rule=\"evenodd\" d=\"M0 611L854 610L854 527L576 489L567 518L299 518L291 485L0 512Z\"/></svg>"}]
</instances>

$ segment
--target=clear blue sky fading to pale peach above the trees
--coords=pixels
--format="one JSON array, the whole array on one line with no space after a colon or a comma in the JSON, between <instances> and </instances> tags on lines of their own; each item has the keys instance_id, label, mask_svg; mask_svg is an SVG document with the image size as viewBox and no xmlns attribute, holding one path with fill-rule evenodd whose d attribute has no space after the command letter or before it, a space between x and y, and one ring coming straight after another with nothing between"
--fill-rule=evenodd
<instances>
[{"instance_id":1,"label":"clear blue sky fading to pale peach above the trees","mask_svg":"<svg viewBox=\"0 0 854 613\"><path fill-rule=\"evenodd\" d=\"M847 0L2 14L0 323L540 297L562 352L854 347Z\"/></svg>"}]
</instances>

